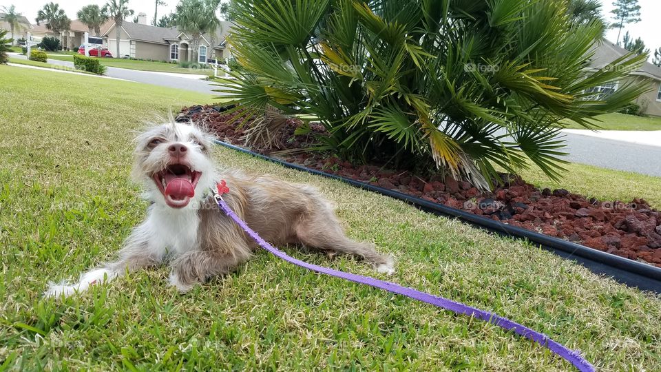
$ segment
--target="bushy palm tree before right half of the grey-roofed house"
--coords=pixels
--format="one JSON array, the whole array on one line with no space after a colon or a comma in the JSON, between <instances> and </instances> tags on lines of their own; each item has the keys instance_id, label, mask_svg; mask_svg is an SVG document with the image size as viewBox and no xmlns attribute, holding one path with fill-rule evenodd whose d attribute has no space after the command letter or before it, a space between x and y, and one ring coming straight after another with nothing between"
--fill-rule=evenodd
<instances>
[{"instance_id":1,"label":"bushy palm tree before right half of the grey-roofed house","mask_svg":"<svg viewBox=\"0 0 661 372\"><path fill-rule=\"evenodd\" d=\"M191 37L194 61L199 61L200 38L204 34L216 33L220 19L216 14L220 0L182 0L177 4L176 23L180 31Z\"/></svg>"}]
</instances>

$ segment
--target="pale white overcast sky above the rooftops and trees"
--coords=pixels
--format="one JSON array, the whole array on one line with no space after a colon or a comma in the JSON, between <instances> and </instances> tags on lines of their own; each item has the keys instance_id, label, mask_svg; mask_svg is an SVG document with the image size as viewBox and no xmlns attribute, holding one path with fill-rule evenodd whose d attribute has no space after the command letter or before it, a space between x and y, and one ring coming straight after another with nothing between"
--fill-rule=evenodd
<instances>
[{"instance_id":1,"label":"pale white overcast sky above the rooftops and trees","mask_svg":"<svg viewBox=\"0 0 661 372\"><path fill-rule=\"evenodd\" d=\"M103 6L105 0L53 0L55 3L59 3L61 8L65 10L67 16L71 19L76 18L76 12L90 3L96 3L100 6ZM168 12L174 11L179 0L165 0L167 5L158 7L158 17ZM2 6L10 6L14 3L17 7L17 11L23 13L25 17L34 23L34 18L36 17L36 12L39 11L46 3L46 0L29 0L29 1L19 1L19 0L0 0L0 8ZM129 7L133 9L136 14L139 12L147 13L147 20L151 22L151 19L154 18L154 3L155 0L139 1L139 0L129 0ZM612 20L612 14L610 13L613 10L613 0L601 0L602 3L602 12L605 15L608 21ZM647 48L650 50L655 50L656 48L661 47L661 28L659 23L661 19L661 0L638 0L640 4L640 18L642 21L638 23L633 23L625 26L625 29L622 30L622 35L625 31L629 31L629 34L633 36L633 39L640 37L644 41ZM615 42L618 37L618 30L609 30L606 34L607 39ZM620 36L620 39L622 37Z\"/></svg>"}]
</instances>

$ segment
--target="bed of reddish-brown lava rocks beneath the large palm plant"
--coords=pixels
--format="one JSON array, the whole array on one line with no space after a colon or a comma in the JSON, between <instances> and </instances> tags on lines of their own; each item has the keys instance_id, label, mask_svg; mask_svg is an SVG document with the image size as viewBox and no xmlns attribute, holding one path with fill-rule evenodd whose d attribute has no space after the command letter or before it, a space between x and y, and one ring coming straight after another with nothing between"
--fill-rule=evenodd
<instances>
[{"instance_id":1,"label":"bed of reddish-brown lava rocks beneath the large palm plant","mask_svg":"<svg viewBox=\"0 0 661 372\"><path fill-rule=\"evenodd\" d=\"M240 122L224 110L220 106L185 107L177 121L193 121L221 141L244 147ZM303 152L314 143L313 134L323 134L324 127L313 124L311 134L296 136L298 125L300 121L295 119L286 121L277 134L276 149L251 150L661 267L661 213L642 198L630 203L588 199L566 189L538 189L509 174L501 174L502 187L481 193L470 183L450 177L419 176L378 164L353 165L334 156ZM282 150L290 151L277 154Z\"/></svg>"}]
</instances>

